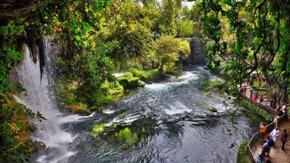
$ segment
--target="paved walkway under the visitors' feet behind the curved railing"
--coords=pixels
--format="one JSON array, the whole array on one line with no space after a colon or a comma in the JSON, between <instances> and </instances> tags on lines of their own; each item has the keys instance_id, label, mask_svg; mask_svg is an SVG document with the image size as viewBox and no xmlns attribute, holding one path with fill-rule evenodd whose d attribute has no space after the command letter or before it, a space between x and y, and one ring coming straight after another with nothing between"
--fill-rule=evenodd
<instances>
[{"instance_id":1,"label":"paved walkway under the visitors' feet behind the curved railing","mask_svg":"<svg viewBox=\"0 0 290 163\"><path fill-rule=\"evenodd\" d=\"M250 91L247 90L246 96L248 98L250 98ZM264 105L264 103L262 103ZM257 126L257 128L260 128L260 126ZM290 120L284 121L283 123L279 124L279 130L280 132L282 130L286 129L287 133L290 137ZM267 133L266 137L269 135L269 133ZM288 137L288 141L290 141ZM272 147L271 148L271 152L270 152L270 161L273 163L284 163L284 162L288 162L290 163L290 142L287 142L285 145L285 150L281 150L281 141L279 140L279 138L277 139L277 142L275 144L275 148ZM255 142L254 145L252 145L251 150L254 154L254 158L257 158L257 156L259 154L261 154L262 152L262 139L258 140L257 142Z\"/></svg>"}]
</instances>

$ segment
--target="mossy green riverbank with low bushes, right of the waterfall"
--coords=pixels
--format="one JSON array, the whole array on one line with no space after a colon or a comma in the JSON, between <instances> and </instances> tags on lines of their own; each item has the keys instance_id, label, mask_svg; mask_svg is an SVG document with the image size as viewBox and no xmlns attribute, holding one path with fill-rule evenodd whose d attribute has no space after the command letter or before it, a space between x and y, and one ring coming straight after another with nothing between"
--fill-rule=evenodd
<instances>
[{"instance_id":1,"label":"mossy green riverbank with low bushes, right of the waterfall","mask_svg":"<svg viewBox=\"0 0 290 163\"><path fill-rule=\"evenodd\" d=\"M175 74L178 76L181 72ZM79 91L82 91L79 88L79 82L71 75L66 74L56 79L55 94L61 108L65 108L64 111L88 115L101 106L122 99L126 94L130 94L139 87L144 87L145 84L152 84L153 81L160 81L166 77L167 74L162 74L160 69L147 71L131 69L129 72L124 72L113 78L112 81L104 81L96 96L90 97L79 94ZM94 98L96 102L89 104L87 103L90 101L88 98Z\"/></svg>"}]
</instances>

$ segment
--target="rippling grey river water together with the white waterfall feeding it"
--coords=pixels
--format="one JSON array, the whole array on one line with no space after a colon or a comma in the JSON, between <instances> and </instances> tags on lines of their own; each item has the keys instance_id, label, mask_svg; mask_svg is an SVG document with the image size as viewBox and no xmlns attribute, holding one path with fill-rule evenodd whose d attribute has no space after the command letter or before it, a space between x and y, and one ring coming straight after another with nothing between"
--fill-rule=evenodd
<instances>
[{"instance_id":1,"label":"rippling grey river water together with the white waterfall feeding it","mask_svg":"<svg viewBox=\"0 0 290 163\"><path fill-rule=\"evenodd\" d=\"M32 62L27 47L15 73L26 88L16 100L47 118L32 122L38 126L33 140L47 147L32 154L33 162L236 162L240 142L257 132L258 122L240 113L233 127L227 110L234 108L225 107L225 99L218 94L205 94L203 82L218 77L201 66L186 67L181 77L147 84L90 116L61 113L52 91L53 48L46 46L42 81L39 65ZM92 126L102 123L144 131L134 145L124 148L123 142L113 138L121 129L94 137Z\"/></svg>"}]
</instances>

